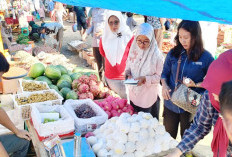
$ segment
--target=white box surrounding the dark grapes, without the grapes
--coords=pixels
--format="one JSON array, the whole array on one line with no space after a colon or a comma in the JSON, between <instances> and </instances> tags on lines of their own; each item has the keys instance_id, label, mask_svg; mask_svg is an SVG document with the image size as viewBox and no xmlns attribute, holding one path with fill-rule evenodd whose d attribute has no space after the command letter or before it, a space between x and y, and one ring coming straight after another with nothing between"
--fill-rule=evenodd
<instances>
[{"instance_id":1,"label":"white box surrounding the dark grapes, without the grapes","mask_svg":"<svg viewBox=\"0 0 232 157\"><path fill-rule=\"evenodd\" d=\"M89 105L96 113L96 116L87 119L78 118L74 110L76 109L76 107L81 106L82 104ZM98 128L101 124L105 123L105 121L108 119L108 116L105 113L105 111L101 107L99 107L95 102L93 102L91 99L83 99L83 100L69 99L65 101L64 107L74 118L75 129L80 133L93 131L96 128Z\"/></svg>"}]
</instances>

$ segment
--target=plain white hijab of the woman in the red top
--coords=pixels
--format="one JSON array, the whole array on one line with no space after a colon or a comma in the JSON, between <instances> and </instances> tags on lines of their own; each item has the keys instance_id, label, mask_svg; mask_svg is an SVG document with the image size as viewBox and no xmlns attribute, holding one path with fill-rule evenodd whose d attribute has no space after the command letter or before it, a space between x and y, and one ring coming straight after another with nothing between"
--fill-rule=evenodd
<instances>
[{"instance_id":1,"label":"plain white hijab of the woman in the red top","mask_svg":"<svg viewBox=\"0 0 232 157\"><path fill-rule=\"evenodd\" d=\"M116 16L120 21L118 32L110 30L108 20L111 16ZM121 33L121 37L118 36ZM126 25L126 20L121 12L108 11L106 15L105 29L102 35L102 45L105 51L106 58L112 66L121 64L126 46L132 38L132 32Z\"/></svg>"}]
</instances>

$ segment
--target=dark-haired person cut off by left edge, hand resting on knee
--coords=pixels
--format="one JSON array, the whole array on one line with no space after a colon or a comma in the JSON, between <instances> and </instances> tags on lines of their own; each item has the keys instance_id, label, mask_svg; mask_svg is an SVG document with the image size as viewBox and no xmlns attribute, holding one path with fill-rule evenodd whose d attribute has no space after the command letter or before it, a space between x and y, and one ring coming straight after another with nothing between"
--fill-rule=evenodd
<instances>
[{"instance_id":1,"label":"dark-haired person cut off by left edge, hand resting on knee","mask_svg":"<svg viewBox=\"0 0 232 157\"><path fill-rule=\"evenodd\" d=\"M9 70L9 63L0 53L0 78ZM20 116L20 115L18 115ZM14 134L0 135L0 156L25 157L30 144L30 135L25 130L19 130L10 120L4 109L0 107L0 124L12 131Z\"/></svg>"}]
</instances>

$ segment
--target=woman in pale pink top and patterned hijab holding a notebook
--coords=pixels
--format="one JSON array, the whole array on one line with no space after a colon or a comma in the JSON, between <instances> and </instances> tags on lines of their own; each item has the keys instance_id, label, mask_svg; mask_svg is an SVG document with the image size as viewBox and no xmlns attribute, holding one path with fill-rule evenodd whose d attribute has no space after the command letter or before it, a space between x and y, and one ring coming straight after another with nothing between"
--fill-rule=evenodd
<instances>
[{"instance_id":1,"label":"woman in pale pink top and patterned hijab holding a notebook","mask_svg":"<svg viewBox=\"0 0 232 157\"><path fill-rule=\"evenodd\" d=\"M129 98L135 111L152 112L159 117L160 77L163 70L163 55L155 40L150 24L143 23L137 28L126 65L126 78L138 80L137 86L128 86ZM156 105L156 106L155 106ZM153 107L152 107L153 106Z\"/></svg>"}]
</instances>

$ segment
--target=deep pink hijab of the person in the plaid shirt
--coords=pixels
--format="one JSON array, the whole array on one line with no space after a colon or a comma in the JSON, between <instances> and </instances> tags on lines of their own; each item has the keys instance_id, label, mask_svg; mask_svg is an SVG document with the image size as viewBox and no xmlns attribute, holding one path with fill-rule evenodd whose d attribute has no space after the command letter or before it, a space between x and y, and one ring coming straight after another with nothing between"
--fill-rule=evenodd
<instances>
[{"instance_id":1,"label":"deep pink hijab of the person in the plaid shirt","mask_svg":"<svg viewBox=\"0 0 232 157\"><path fill-rule=\"evenodd\" d=\"M224 52L217 60L212 62L202 83L202 87L209 91L211 104L219 113L221 112L220 104L214 100L213 93L219 95L222 84L230 80L232 80L232 50ZM211 143L214 157L226 157L228 144L229 139L222 119L219 117L214 126Z\"/></svg>"}]
</instances>

